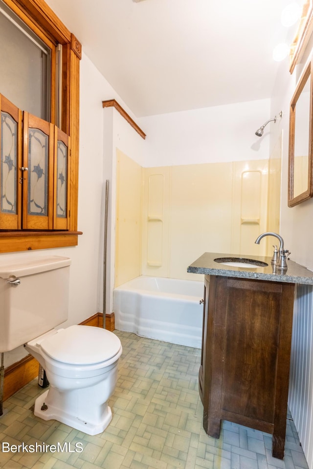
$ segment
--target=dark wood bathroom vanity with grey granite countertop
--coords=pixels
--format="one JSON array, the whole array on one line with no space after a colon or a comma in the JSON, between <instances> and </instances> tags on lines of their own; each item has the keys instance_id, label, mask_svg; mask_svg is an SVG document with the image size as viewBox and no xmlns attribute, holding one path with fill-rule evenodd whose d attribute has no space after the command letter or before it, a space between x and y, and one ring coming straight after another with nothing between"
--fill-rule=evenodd
<instances>
[{"instance_id":1,"label":"dark wood bathroom vanity with grey granite countertop","mask_svg":"<svg viewBox=\"0 0 313 469\"><path fill-rule=\"evenodd\" d=\"M294 289L313 284L313 272L290 260L287 272L273 272L270 257L236 257L205 253L187 269L205 276L203 427L215 438L222 420L271 433L272 455L283 459ZM247 267L249 259L259 265Z\"/></svg>"}]
</instances>

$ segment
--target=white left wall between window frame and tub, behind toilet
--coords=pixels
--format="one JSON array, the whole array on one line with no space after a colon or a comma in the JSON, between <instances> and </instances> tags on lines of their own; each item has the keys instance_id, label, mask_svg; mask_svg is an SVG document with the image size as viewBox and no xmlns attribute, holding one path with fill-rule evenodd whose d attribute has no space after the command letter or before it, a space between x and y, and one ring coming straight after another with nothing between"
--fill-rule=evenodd
<instances>
[{"instance_id":1,"label":"white left wall between window frame and tub, behind toilet","mask_svg":"<svg viewBox=\"0 0 313 469\"><path fill-rule=\"evenodd\" d=\"M99 273L102 272L103 263L103 173L106 163L103 159L104 110L102 101L112 98L117 99L123 107L125 106L112 86L83 53L80 66L78 184L78 230L82 231L83 235L78 236L78 246L0 254L0 261L15 259L18 256L31 258L51 254L71 258L69 315L63 326L77 324L98 311L102 311L102 283L99 281ZM115 133L117 135L119 133L118 125ZM5 353L5 366L20 360L24 355L22 347Z\"/></svg>"}]
</instances>

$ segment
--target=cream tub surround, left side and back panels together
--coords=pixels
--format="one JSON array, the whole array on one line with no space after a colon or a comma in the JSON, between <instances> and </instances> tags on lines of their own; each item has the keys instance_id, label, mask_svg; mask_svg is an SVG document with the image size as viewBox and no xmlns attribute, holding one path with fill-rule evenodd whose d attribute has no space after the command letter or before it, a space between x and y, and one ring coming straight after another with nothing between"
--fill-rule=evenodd
<instances>
[{"instance_id":1,"label":"cream tub surround, left side and back panels together","mask_svg":"<svg viewBox=\"0 0 313 469\"><path fill-rule=\"evenodd\" d=\"M199 280L186 266L207 251L267 255L254 239L277 231L274 177L280 160L141 168L118 151L115 287L140 274Z\"/></svg>"}]
</instances>

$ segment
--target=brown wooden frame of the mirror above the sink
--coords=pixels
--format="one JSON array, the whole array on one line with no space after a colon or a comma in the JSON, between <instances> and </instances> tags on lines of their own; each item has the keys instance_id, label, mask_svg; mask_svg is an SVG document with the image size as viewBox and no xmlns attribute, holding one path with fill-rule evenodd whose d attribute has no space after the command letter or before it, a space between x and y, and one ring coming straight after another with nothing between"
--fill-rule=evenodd
<instances>
[{"instance_id":1,"label":"brown wooden frame of the mirror above the sink","mask_svg":"<svg viewBox=\"0 0 313 469\"><path fill-rule=\"evenodd\" d=\"M310 80L310 115L309 115L309 142L308 142L308 188L306 191L294 197L294 140L295 140L295 118L296 104L300 94ZM288 165L288 206L294 207L301 202L313 196L313 177L312 177L312 160L313 160L313 58L306 65L296 86L295 92L290 103L290 126L289 126L289 165Z\"/></svg>"}]
</instances>

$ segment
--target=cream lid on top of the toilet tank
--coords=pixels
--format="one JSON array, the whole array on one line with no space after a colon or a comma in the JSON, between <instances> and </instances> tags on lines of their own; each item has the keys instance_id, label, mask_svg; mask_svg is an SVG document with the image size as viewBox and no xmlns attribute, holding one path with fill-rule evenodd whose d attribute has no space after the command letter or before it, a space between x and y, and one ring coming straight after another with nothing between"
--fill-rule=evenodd
<instances>
[{"instance_id":1,"label":"cream lid on top of the toilet tank","mask_svg":"<svg viewBox=\"0 0 313 469\"><path fill-rule=\"evenodd\" d=\"M18 256L10 262L0 263L0 278L39 274L40 272L66 267L70 265L70 262L69 257L63 256L40 256L34 258Z\"/></svg>"}]
</instances>

